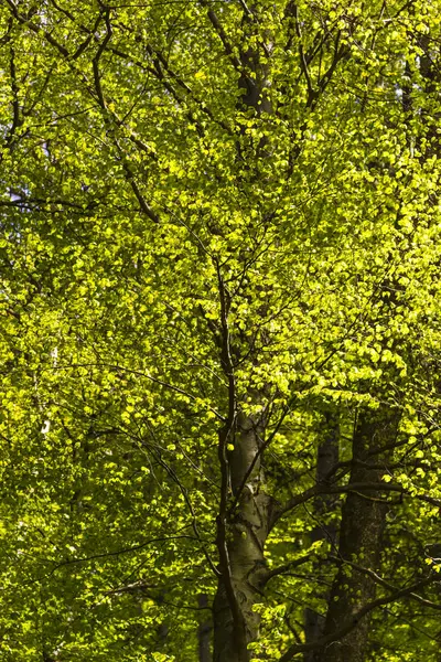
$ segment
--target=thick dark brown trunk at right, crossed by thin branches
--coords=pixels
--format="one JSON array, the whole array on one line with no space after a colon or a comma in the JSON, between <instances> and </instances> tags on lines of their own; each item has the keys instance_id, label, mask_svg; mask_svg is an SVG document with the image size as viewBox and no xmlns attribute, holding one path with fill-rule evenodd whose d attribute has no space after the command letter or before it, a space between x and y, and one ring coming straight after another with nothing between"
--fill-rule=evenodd
<instances>
[{"instance_id":1,"label":"thick dark brown trunk at right, crossed by thin branches","mask_svg":"<svg viewBox=\"0 0 441 662\"><path fill-rule=\"evenodd\" d=\"M384 414L384 413L383 413ZM380 452L397 435L398 416L388 413L378 416L366 412L358 417L353 439L353 467L349 482L379 482L388 452ZM370 468L375 466L375 468ZM381 553L381 533L387 504L377 492L349 492L342 512L340 528L338 568L330 595L324 634L331 634L352 615L375 598L376 584L366 574L344 564L348 560L364 568L377 570ZM369 617L363 618L342 640L329 644L318 653L320 662L364 662L368 643Z\"/></svg>"}]
</instances>

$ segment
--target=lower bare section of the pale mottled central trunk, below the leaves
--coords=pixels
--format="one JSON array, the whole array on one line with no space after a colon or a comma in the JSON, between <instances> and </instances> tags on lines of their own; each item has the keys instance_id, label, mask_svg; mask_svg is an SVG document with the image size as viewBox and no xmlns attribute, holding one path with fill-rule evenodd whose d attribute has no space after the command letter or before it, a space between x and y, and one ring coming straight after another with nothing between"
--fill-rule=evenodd
<instances>
[{"instance_id":1,"label":"lower bare section of the pale mottled central trunk, below the leaves","mask_svg":"<svg viewBox=\"0 0 441 662\"><path fill-rule=\"evenodd\" d=\"M261 423L238 415L237 441L229 453L232 499L225 522L228 567L219 564L222 576L213 606L214 662L248 662L247 644L258 638L259 616L252 608L261 599L270 514L259 457L262 433ZM232 605L232 589L236 605Z\"/></svg>"}]
</instances>

